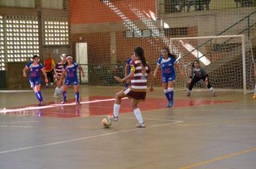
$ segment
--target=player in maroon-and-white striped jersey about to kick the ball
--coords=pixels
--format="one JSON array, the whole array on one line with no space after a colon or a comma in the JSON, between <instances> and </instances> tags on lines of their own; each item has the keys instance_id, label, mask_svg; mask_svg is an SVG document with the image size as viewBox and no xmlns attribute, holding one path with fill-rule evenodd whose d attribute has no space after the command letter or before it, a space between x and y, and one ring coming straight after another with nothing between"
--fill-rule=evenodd
<instances>
[{"instance_id":1,"label":"player in maroon-and-white striped jersey about to kick the ball","mask_svg":"<svg viewBox=\"0 0 256 169\"><path fill-rule=\"evenodd\" d=\"M150 92L153 91L154 77L148 66L144 50L142 47L136 47L134 49L135 60L131 63L131 72L121 79L120 77L114 77L118 82L126 82L127 79L131 79L131 86L116 93L116 100L114 103L113 115L110 115L111 120L118 120L119 110L121 107L121 99L123 97L129 97L132 100L132 110L135 117L139 121L136 127L145 127L145 122L142 119L139 102L145 101L147 92L147 77L150 77Z\"/></svg>"}]
</instances>

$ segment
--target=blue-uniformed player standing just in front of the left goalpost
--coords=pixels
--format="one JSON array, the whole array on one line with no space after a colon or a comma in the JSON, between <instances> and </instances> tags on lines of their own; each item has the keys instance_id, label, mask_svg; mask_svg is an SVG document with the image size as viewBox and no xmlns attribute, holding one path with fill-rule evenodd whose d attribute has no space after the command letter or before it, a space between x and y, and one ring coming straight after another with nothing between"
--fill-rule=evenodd
<instances>
[{"instance_id":1,"label":"blue-uniformed player standing just in front of the left goalpost","mask_svg":"<svg viewBox=\"0 0 256 169\"><path fill-rule=\"evenodd\" d=\"M167 107L173 107L173 84L176 77L175 67L178 68L181 76L184 76L180 65L175 61L175 55L170 53L168 47L163 47L161 57L157 60L157 67L154 71L154 77L156 78L158 70L161 69L163 90L168 100Z\"/></svg>"}]
</instances>

